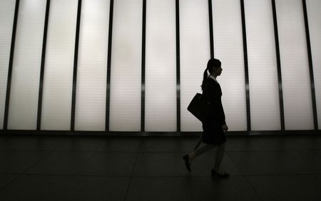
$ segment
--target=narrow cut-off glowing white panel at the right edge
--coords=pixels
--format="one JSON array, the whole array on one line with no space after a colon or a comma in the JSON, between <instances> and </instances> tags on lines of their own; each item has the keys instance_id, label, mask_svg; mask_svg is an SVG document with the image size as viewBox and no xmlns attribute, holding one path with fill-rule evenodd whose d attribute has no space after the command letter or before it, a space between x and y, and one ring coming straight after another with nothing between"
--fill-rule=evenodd
<instances>
[{"instance_id":1,"label":"narrow cut-off glowing white panel at the right edge","mask_svg":"<svg viewBox=\"0 0 321 201\"><path fill-rule=\"evenodd\" d=\"M315 98L317 100L317 125L321 129L321 1L307 0L313 74L315 77Z\"/></svg>"}]
</instances>

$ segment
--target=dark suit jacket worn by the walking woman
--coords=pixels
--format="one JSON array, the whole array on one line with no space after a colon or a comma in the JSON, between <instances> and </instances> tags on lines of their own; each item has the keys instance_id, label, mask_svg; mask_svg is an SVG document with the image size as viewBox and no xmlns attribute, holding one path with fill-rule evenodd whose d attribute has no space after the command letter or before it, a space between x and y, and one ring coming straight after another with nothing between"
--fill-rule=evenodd
<instances>
[{"instance_id":1,"label":"dark suit jacket worn by the walking woman","mask_svg":"<svg viewBox=\"0 0 321 201\"><path fill-rule=\"evenodd\" d=\"M203 90L203 98L209 104L205 114L203 124L215 124L221 127L225 125L225 114L222 105L222 90L220 85L212 78L208 77L205 80L205 88Z\"/></svg>"}]
</instances>

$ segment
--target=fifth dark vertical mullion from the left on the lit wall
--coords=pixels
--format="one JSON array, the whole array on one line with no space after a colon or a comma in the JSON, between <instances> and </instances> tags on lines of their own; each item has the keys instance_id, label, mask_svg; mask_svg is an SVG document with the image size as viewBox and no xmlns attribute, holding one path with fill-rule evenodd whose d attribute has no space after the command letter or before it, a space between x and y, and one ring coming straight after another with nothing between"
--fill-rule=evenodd
<instances>
[{"instance_id":1,"label":"fifth dark vertical mullion from the left on the lit wall","mask_svg":"<svg viewBox=\"0 0 321 201\"><path fill-rule=\"evenodd\" d=\"M145 131L145 56L146 56L146 0L143 0L143 29L141 51L141 131Z\"/></svg>"}]
</instances>

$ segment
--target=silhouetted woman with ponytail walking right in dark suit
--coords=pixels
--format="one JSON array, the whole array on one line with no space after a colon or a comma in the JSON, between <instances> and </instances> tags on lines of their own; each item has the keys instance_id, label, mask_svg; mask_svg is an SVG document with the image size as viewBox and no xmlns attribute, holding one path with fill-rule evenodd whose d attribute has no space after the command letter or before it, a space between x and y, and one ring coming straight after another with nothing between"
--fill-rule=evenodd
<instances>
[{"instance_id":1,"label":"silhouetted woman with ponytail walking right in dark suit","mask_svg":"<svg viewBox=\"0 0 321 201\"><path fill-rule=\"evenodd\" d=\"M190 165L192 161L199 155L211 150L213 148L218 148L216 151L215 165L211 170L211 175L217 175L218 177L228 177L229 174L220 170L220 163L223 159L223 154L225 150L225 133L228 130L228 125L225 123L225 114L222 105L222 91L220 89L220 84L216 80L217 76L220 76L223 69L221 68L220 60L211 58L208 61L208 66L203 74L202 83L202 97L208 102L208 110L205 114L205 120L203 123L203 145L195 149L192 153L184 155L185 165L188 171L190 170ZM208 76L208 72L210 76Z\"/></svg>"}]
</instances>

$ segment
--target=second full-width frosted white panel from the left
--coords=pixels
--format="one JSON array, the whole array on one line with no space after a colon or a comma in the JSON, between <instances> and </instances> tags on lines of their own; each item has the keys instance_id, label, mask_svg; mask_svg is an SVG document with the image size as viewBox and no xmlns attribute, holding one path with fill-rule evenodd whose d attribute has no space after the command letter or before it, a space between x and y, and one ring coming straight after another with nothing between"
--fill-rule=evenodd
<instances>
[{"instance_id":1,"label":"second full-width frosted white panel from the left","mask_svg":"<svg viewBox=\"0 0 321 201\"><path fill-rule=\"evenodd\" d=\"M51 1L41 130L70 130L78 0Z\"/></svg>"}]
</instances>

